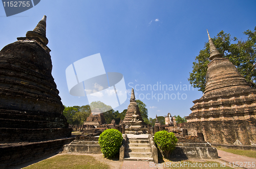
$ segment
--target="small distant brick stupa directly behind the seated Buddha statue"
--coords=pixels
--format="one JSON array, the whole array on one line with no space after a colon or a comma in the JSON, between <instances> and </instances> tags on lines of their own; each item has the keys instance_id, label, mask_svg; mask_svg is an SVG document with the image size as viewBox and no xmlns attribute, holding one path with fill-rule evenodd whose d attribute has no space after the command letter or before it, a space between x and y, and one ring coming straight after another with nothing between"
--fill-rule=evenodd
<instances>
[{"instance_id":1,"label":"small distant brick stupa directly behind the seated Buddha statue","mask_svg":"<svg viewBox=\"0 0 256 169\"><path fill-rule=\"evenodd\" d=\"M144 121L141 117L140 110L139 110L139 107L137 105L136 99L135 99L134 90L132 89L130 104L127 108L125 117L123 119L123 123L125 125L130 125L130 122L133 119L132 116L134 115L134 111L136 111L136 114L139 115L139 120L142 121L141 125L145 125L145 123L144 123Z\"/></svg>"}]
</instances>

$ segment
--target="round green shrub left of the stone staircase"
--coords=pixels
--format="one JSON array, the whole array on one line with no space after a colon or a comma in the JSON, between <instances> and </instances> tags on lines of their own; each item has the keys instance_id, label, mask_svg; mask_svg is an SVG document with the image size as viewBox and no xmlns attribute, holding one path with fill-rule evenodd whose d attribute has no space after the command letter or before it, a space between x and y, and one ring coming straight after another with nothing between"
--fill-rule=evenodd
<instances>
[{"instance_id":1,"label":"round green shrub left of the stone staircase","mask_svg":"<svg viewBox=\"0 0 256 169\"><path fill-rule=\"evenodd\" d=\"M116 129L107 129L99 136L99 145L104 157L114 157L122 144L122 133Z\"/></svg>"}]
</instances>

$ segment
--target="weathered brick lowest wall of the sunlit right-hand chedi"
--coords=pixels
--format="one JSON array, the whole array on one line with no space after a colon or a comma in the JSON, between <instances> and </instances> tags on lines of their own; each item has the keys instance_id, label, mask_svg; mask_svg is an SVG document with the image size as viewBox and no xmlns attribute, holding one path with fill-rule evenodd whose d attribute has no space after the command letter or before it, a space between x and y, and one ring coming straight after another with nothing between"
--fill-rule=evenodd
<instances>
[{"instance_id":1,"label":"weathered brick lowest wall of the sunlit right-hand chedi","mask_svg":"<svg viewBox=\"0 0 256 169\"><path fill-rule=\"evenodd\" d=\"M197 121L183 123L180 126L187 129L189 135L202 132L207 142L218 144L233 144L237 139L243 145L256 142L256 119Z\"/></svg>"}]
</instances>

